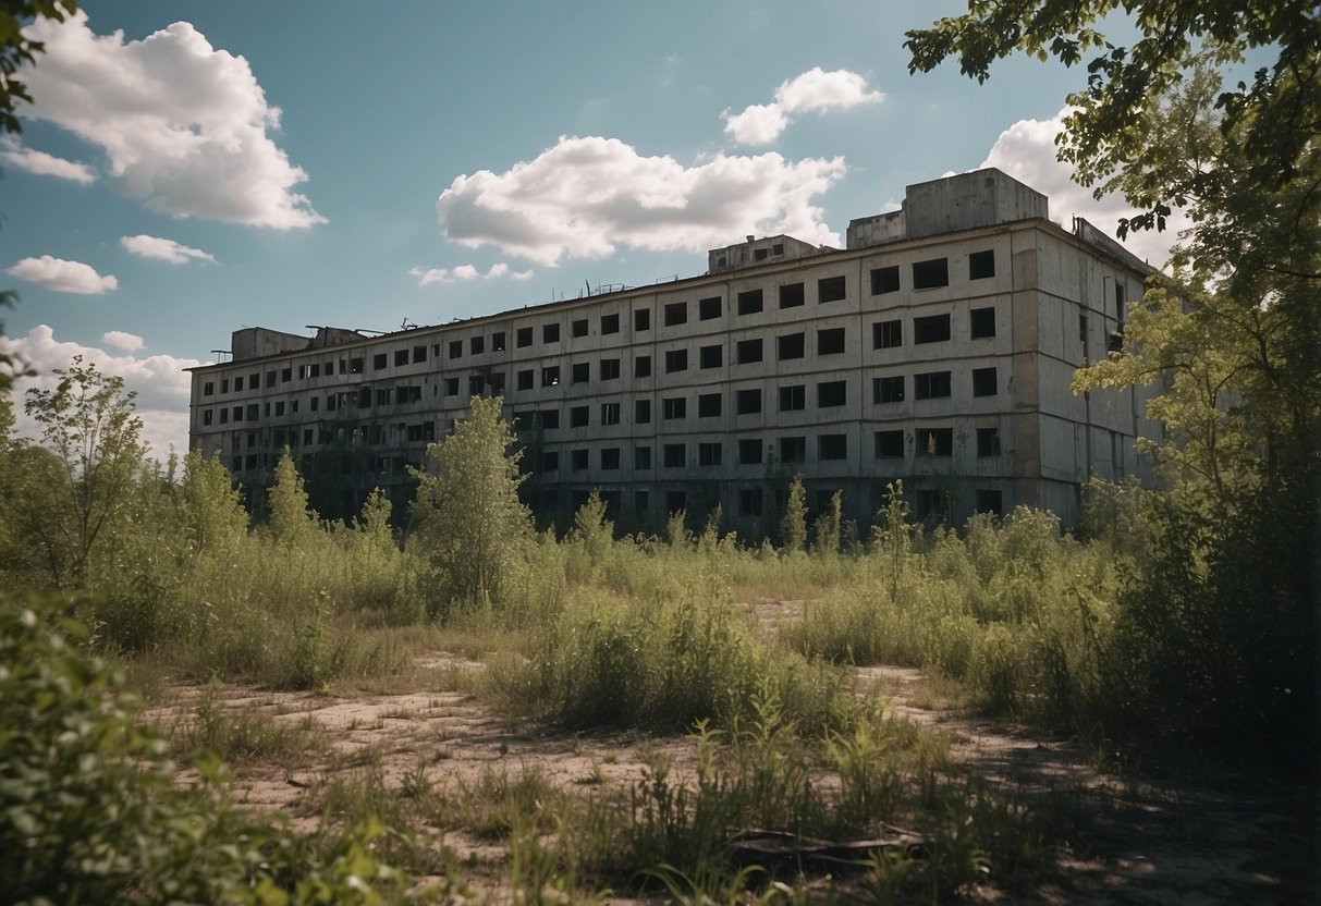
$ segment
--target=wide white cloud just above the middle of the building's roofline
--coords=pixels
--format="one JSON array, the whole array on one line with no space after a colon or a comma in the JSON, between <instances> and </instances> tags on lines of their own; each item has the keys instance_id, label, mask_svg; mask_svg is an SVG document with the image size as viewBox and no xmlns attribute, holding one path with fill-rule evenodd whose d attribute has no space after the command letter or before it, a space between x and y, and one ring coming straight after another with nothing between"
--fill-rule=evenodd
<instances>
[{"instance_id":1,"label":"wide white cloud just above the middle of the building's roofline","mask_svg":"<svg viewBox=\"0 0 1321 906\"><path fill-rule=\"evenodd\" d=\"M787 161L777 153L717 155L684 166L618 139L560 136L505 173L457 177L436 210L448 239L547 265L604 258L617 246L704 251L749 232L838 246L812 199L847 169L843 157Z\"/></svg>"}]
</instances>

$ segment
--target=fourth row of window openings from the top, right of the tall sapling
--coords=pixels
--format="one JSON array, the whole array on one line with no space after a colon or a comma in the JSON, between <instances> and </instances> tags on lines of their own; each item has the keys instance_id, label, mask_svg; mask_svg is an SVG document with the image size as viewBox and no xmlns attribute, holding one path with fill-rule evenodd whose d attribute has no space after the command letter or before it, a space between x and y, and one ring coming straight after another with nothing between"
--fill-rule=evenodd
<instances>
[{"instance_id":1,"label":"fourth row of window openings from the top, right of the tall sapling","mask_svg":"<svg viewBox=\"0 0 1321 906\"><path fill-rule=\"evenodd\" d=\"M877 460L902 458L906 453L906 437L911 437L914 456L948 457L954 456L954 429L952 428L921 428L911 435L904 429L877 431L872 436L873 456ZM978 457L987 458L1000 454L1000 429L976 429ZM749 437L737 441L737 464L741 466L762 465L766 461L768 449L778 449L779 462L786 465L807 461L807 437L793 436L781 437L773 444L768 444L761 437ZM633 469L645 471L653 468L651 446L633 448ZM720 441L696 444L696 466L700 469L724 465L725 445ZM569 470L587 471L590 468L590 450L585 448L568 452ZM664 469L687 469L690 454L688 444L663 444L660 446L660 466ZM818 435L816 460L822 462L848 458L848 435ZM597 450L597 466L602 471L620 469L620 448L605 446ZM559 450L547 450L538 460L538 470L542 473L559 471Z\"/></svg>"}]
</instances>

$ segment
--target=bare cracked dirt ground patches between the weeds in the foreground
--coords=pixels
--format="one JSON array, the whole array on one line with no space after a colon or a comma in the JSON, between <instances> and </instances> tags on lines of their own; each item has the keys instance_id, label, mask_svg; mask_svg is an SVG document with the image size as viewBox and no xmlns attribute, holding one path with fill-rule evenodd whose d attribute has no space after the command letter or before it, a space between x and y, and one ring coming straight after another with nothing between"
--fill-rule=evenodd
<instances>
[{"instance_id":1,"label":"bare cracked dirt ground patches between the weeds in the foreground","mask_svg":"<svg viewBox=\"0 0 1321 906\"><path fill-rule=\"evenodd\" d=\"M761 600L749 605L771 629L793 619L798 602ZM567 790L593 795L627 791L649 766L666 763L684 777L695 745L682 736L634 732L567 733L510 725L477 699L454 691L456 675L482 664L448 652L419 662L419 688L403 695L271 692L226 687L223 703L264 713L291 728L313 726L324 745L283 763L239 766L232 795L254 810L281 810L312 827L320 820L309 795L329 778L370 763L387 787L424 771L428 782L464 788L483 774L517 777L535 769ZM1012 899L999 890L971 894L979 902L1037 903L1300 903L1321 902L1314 823L1317 790L1247 783L1215 788L1185 782L1135 779L1098 771L1079 745L1049 740L933 708L919 671L868 667L859 688L884 695L901 714L947 730L955 761L980 777L1018 784L1063 784L1095 791L1096 820L1090 852L1061 862L1030 894ZM170 689L168 705L148 716L169 725L185 720L205 691ZM188 777L181 775L182 781ZM450 847L481 878L497 878L507 853L490 841L445 833ZM491 881L494 884L494 881ZM490 890L499 897L498 890Z\"/></svg>"}]
</instances>

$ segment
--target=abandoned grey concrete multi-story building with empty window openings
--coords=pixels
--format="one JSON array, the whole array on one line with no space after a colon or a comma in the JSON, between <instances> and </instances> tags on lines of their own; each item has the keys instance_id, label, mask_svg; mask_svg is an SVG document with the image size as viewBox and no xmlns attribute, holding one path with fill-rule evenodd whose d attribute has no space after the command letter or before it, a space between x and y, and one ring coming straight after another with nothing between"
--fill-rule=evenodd
<instances>
[{"instance_id":1,"label":"abandoned grey concrete multi-story building with empty window openings","mask_svg":"<svg viewBox=\"0 0 1321 906\"><path fill-rule=\"evenodd\" d=\"M193 368L190 445L250 489L284 448L329 511L408 487L472 395L502 395L534 508L592 489L621 519L719 503L771 532L783 489L867 522L902 479L919 516L1025 503L1077 520L1090 475L1149 478L1140 391L1070 392L1151 271L999 170L909 186L844 250L771 236L705 275L380 335L234 333Z\"/></svg>"}]
</instances>

